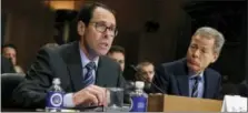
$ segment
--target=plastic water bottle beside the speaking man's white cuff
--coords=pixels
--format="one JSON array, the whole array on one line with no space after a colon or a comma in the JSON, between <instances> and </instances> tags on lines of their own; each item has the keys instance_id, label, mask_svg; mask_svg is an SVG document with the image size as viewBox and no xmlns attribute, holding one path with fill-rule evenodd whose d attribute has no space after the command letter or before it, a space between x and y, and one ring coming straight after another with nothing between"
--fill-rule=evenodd
<instances>
[{"instance_id":1,"label":"plastic water bottle beside the speaking man's white cuff","mask_svg":"<svg viewBox=\"0 0 248 113\"><path fill-rule=\"evenodd\" d=\"M65 91L60 86L60 79L56 78L52 81L52 86L49 89L47 93L47 103L46 111L47 112L61 112L63 107L63 95Z\"/></svg>"}]
</instances>

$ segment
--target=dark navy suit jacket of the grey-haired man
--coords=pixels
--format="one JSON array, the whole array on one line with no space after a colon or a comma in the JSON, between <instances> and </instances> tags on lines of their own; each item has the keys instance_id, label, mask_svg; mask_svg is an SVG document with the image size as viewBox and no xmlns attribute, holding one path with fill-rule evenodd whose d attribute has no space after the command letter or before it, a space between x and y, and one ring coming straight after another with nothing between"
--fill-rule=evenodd
<instances>
[{"instance_id":1,"label":"dark navy suit jacket of the grey-haired man","mask_svg":"<svg viewBox=\"0 0 248 113\"><path fill-rule=\"evenodd\" d=\"M205 78L205 99L218 99L221 88L220 74L211 69L206 69ZM163 63L156 70L152 92L189 96L188 68L186 59L181 59L170 63Z\"/></svg>"}]
</instances>

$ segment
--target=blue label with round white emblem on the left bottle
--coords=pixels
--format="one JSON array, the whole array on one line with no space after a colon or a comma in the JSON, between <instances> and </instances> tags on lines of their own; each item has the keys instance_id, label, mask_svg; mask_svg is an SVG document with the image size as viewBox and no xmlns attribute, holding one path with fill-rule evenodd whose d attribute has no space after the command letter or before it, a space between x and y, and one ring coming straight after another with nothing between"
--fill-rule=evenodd
<instances>
[{"instance_id":1,"label":"blue label with round white emblem on the left bottle","mask_svg":"<svg viewBox=\"0 0 248 113\"><path fill-rule=\"evenodd\" d=\"M47 107L62 107L63 92L49 91L47 95Z\"/></svg>"}]
</instances>

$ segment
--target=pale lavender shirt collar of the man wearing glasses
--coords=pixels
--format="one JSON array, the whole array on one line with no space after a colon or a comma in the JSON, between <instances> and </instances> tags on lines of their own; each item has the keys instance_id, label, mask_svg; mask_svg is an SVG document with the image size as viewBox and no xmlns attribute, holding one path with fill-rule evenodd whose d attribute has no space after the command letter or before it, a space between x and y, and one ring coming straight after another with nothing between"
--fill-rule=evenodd
<instances>
[{"instance_id":1,"label":"pale lavender shirt collar of the man wearing glasses","mask_svg":"<svg viewBox=\"0 0 248 113\"><path fill-rule=\"evenodd\" d=\"M92 62L90 61L87 56L86 56L86 53L80 49L80 45L79 45L79 50L80 50L80 58L81 58L81 64L82 64L82 68L85 68L89 62ZM99 56L97 56L93 62L96 63L96 69L98 68L98 62L99 62Z\"/></svg>"}]
</instances>

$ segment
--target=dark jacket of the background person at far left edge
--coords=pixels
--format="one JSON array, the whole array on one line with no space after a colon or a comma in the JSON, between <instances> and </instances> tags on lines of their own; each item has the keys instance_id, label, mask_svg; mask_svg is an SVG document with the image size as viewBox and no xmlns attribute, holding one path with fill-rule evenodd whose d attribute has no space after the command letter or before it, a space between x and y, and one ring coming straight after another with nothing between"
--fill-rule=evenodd
<instances>
[{"instance_id":1,"label":"dark jacket of the background person at far left edge","mask_svg":"<svg viewBox=\"0 0 248 113\"><path fill-rule=\"evenodd\" d=\"M12 62L1 55L1 73L16 73Z\"/></svg>"}]
</instances>

